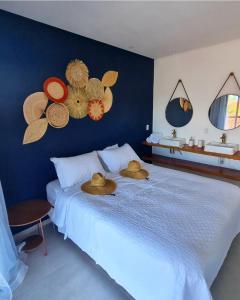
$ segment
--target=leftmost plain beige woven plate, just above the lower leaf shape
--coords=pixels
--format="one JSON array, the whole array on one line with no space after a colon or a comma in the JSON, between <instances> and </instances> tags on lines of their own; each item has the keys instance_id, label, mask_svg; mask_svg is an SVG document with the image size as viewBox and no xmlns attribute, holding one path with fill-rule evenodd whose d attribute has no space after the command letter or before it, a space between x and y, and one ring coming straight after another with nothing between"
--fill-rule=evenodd
<instances>
[{"instance_id":1,"label":"leftmost plain beige woven plate, just above the lower leaf shape","mask_svg":"<svg viewBox=\"0 0 240 300\"><path fill-rule=\"evenodd\" d=\"M36 92L26 98L23 104L25 121L30 124L41 118L48 104L48 98L43 92Z\"/></svg>"}]
</instances>

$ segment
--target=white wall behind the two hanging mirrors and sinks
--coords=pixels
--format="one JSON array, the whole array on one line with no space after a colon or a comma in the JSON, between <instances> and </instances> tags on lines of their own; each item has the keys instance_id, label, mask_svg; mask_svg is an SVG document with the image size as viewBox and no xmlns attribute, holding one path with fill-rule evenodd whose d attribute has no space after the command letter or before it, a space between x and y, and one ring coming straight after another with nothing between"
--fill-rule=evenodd
<instances>
[{"instance_id":1,"label":"white wall behind the two hanging mirrors and sinks","mask_svg":"<svg viewBox=\"0 0 240 300\"><path fill-rule=\"evenodd\" d=\"M221 131L208 119L209 107L230 72L234 72L240 81L240 39L180 53L155 60L154 65L154 103L153 132L169 136L173 127L165 119L165 109L178 79L182 79L193 106L193 117L186 126L177 128L177 136L208 141L220 141ZM231 79L224 93L240 94ZM175 97L184 96L181 89ZM227 142L240 144L240 128L225 131ZM153 149L154 153L170 155L167 150ZM175 155L183 159L218 164L217 158L184 153ZM239 168L240 163L225 160L224 166Z\"/></svg>"}]
</instances>

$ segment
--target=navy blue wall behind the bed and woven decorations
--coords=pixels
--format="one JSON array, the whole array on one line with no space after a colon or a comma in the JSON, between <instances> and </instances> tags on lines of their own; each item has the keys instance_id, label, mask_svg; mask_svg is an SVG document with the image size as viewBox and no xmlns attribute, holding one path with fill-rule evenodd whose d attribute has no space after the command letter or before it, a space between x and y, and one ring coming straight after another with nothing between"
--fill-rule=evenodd
<instances>
[{"instance_id":1,"label":"navy blue wall behind the bed and woven decorations","mask_svg":"<svg viewBox=\"0 0 240 300\"><path fill-rule=\"evenodd\" d=\"M70 119L67 127L49 126L38 142L22 145L25 98L42 91L50 76L65 80L71 59L79 58L90 76L119 72L112 109L99 122ZM152 124L153 60L0 10L0 179L7 205L45 197L56 178L51 156L72 156L114 143L141 142Z\"/></svg>"}]
</instances>

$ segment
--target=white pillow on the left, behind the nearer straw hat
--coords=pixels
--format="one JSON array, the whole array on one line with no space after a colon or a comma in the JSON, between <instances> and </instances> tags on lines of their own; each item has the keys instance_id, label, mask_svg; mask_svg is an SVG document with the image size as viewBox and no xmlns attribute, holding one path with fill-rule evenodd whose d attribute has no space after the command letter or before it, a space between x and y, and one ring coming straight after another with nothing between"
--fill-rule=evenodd
<instances>
[{"instance_id":1,"label":"white pillow on the left, behind the nearer straw hat","mask_svg":"<svg viewBox=\"0 0 240 300\"><path fill-rule=\"evenodd\" d=\"M54 157L50 160L54 163L62 189L90 180L94 173L105 173L96 151L73 157Z\"/></svg>"}]
</instances>

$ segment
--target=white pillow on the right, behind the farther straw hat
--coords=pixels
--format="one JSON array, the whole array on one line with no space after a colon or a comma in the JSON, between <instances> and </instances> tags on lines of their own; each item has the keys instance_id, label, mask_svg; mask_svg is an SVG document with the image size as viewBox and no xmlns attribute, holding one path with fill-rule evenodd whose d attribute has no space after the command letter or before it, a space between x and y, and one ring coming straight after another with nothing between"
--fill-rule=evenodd
<instances>
[{"instance_id":1,"label":"white pillow on the right, behind the farther straw hat","mask_svg":"<svg viewBox=\"0 0 240 300\"><path fill-rule=\"evenodd\" d=\"M110 172L119 172L121 169L127 168L130 160L141 161L129 144L124 144L116 149L98 151L98 155Z\"/></svg>"}]
</instances>

